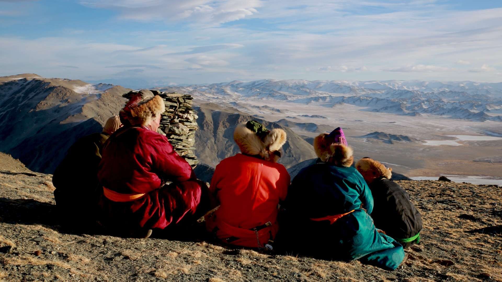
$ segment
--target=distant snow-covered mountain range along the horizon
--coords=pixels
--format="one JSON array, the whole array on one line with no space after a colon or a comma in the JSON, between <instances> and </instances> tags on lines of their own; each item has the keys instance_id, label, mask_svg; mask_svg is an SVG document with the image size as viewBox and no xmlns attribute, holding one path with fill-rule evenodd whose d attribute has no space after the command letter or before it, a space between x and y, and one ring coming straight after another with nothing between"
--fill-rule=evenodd
<instances>
[{"instance_id":1,"label":"distant snow-covered mountain range along the horizon","mask_svg":"<svg viewBox=\"0 0 502 282\"><path fill-rule=\"evenodd\" d=\"M350 104L366 111L412 116L427 113L478 121L502 119L487 114L502 113L502 83L263 79L172 86L162 90L185 92L218 102L280 100L325 107Z\"/></svg>"}]
</instances>

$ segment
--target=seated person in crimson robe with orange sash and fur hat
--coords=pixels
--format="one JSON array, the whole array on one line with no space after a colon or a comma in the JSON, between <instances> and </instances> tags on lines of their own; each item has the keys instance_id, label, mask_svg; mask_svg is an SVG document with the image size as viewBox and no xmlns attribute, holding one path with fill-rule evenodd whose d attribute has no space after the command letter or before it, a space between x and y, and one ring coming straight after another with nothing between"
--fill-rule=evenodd
<instances>
[{"instance_id":1,"label":"seated person in crimson robe with orange sash and fur hat","mask_svg":"<svg viewBox=\"0 0 502 282\"><path fill-rule=\"evenodd\" d=\"M142 99L127 111L131 126L117 130L102 150L102 224L121 236L149 237L209 210L207 186L156 132L164 111L160 96Z\"/></svg>"}]
</instances>

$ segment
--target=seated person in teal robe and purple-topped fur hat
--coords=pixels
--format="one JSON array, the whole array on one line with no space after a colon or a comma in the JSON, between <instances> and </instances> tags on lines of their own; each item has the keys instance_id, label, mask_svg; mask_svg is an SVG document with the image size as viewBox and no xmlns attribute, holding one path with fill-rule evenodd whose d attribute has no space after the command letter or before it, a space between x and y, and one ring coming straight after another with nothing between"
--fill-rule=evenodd
<instances>
[{"instance_id":1,"label":"seated person in teal robe and purple-topped fur hat","mask_svg":"<svg viewBox=\"0 0 502 282\"><path fill-rule=\"evenodd\" d=\"M336 130L315 138L319 160L293 179L281 220L282 245L323 258L359 259L396 269L404 259L403 247L376 230L369 216L371 191L351 167L352 149L341 140L341 129Z\"/></svg>"}]
</instances>

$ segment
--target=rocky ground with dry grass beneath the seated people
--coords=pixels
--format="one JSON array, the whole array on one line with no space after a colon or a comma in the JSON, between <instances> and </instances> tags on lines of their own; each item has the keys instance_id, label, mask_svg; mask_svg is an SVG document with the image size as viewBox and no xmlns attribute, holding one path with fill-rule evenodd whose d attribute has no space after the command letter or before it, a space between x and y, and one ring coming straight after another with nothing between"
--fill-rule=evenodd
<instances>
[{"instance_id":1,"label":"rocky ground with dry grass beneath the seated people","mask_svg":"<svg viewBox=\"0 0 502 282\"><path fill-rule=\"evenodd\" d=\"M5 156L4 156L5 157ZM5 159L5 158L4 158ZM396 271L226 247L202 240L64 232L51 175L11 159L0 169L0 280L6 281L502 281L502 191L400 181L424 220Z\"/></svg>"}]
</instances>

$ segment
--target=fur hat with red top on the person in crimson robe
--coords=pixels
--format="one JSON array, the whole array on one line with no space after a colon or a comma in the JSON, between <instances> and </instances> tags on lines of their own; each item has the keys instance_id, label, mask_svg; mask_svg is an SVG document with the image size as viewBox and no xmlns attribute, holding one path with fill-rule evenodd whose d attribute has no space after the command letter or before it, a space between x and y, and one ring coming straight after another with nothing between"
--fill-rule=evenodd
<instances>
[{"instance_id":1,"label":"fur hat with red top on the person in crimson robe","mask_svg":"<svg viewBox=\"0 0 502 282\"><path fill-rule=\"evenodd\" d=\"M138 103L127 113L127 118L132 125L147 125L152 119L166 110L164 100L160 96L154 96Z\"/></svg>"}]
</instances>

